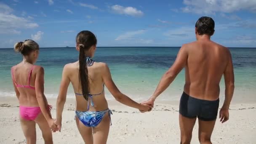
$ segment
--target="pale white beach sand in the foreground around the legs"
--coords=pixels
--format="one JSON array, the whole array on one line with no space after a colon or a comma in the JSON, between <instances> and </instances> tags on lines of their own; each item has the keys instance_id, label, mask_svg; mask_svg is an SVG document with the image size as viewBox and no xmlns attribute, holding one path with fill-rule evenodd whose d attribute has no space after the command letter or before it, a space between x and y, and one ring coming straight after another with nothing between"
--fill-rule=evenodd
<instances>
[{"instance_id":1,"label":"pale white beach sand in the foreground around the legs","mask_svg":"<svg viewBox=\"0 0 256 144\"><path fill-rule=\"evenodd\" d=\"M48 99L56 114L56 99ZM140 113L137 109L109 101L112 109L112 126L107 144L179 144L179 102L156 101L152 112ZM67 99L63 112L61 133L53 133L54 144L84 144L74 116L75 99ZM19 104L13 97L0 98L0 144L25 144L19 123ZM216 122L213 144L256 144L256 104L232 104L229 121ZM198 124L193 131L192 144L198 144ZM37 144L43 144L37 126Z\"/></svg>"}]
</instances>

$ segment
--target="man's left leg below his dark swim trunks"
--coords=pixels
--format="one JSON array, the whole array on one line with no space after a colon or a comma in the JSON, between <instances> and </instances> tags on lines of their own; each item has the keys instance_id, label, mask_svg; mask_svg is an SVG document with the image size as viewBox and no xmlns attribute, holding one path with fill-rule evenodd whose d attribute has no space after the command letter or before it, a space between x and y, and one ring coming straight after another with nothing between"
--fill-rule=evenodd
<instances>
[{"instance_id":1,"label":"man's left leg below his dark swim trunks","mask_svg":"<svg viewBox=\"0 0 256 144\"><path fill-rule=\"evenodd\" d=\"M196 118L187 118L179 114L179 127L181 130L181 144L190 144L192 131Z\"/></svg>"}]
</instances>

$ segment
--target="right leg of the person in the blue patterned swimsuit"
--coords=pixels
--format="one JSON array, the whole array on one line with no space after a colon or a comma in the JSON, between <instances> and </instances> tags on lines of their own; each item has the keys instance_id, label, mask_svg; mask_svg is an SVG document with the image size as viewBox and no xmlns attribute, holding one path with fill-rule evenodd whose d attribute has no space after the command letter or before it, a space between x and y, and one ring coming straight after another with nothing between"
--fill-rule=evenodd
<instances>
[{"instance_id":1,"label":"right leg of the person in the blue patterned swimsuit","mask_svg":"<svg viewBox=\"0 0 256 144\"><path fill-rule=\"evenodd\" d=\"M107 144L107 137L109 135L110 118L109 113L106 112L101 123L93 128L93 144Z\"/></svg>"}]
</instances>

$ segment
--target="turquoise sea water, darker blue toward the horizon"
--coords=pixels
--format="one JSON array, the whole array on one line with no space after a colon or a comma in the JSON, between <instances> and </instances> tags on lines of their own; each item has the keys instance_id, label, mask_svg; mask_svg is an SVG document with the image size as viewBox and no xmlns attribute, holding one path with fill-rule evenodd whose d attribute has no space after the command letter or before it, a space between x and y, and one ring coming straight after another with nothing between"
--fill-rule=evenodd
<instances>
[{"instance_id":1,"label":"turquoise sea water, darker blue toward the horizon","mask_svg":"<svg viewBox=\"0 0 256 144\"><path fill-rule=\"evenodd\" d=\"M256 100L256 48L230 48L235 68L235 90L237 97L250 96ZM144 99L150 96L163 73L173 64L179 47L99 47L95 61L106 62L117 87L128 96ZM57 97L61 72L65 64L75 62L75 48L41 48L38 65L45 68L45 94ZM14 96L10 69L22 60L13 49L0 49L0 96ZM177 100L184 85L182 71L163 93L161 99ZM224 82L221 81L223 93ZM106 91L107 98L112 96ZM68 96L73 97L70 87Z\"/></svg>"}]
</instances>

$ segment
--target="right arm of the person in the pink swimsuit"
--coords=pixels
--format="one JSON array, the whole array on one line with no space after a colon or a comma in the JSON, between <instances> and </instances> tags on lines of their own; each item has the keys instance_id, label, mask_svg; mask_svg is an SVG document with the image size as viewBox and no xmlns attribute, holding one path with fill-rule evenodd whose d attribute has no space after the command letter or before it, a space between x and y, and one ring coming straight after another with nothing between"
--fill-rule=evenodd
<instances>
[{"instance_id":1,"label":"right arm of the person in the pink swimsuit","mask_svg":"<svg viewBox=\"0 0 256 144\"><path fill-rule=\"evenodd\" d=\"M54 120L51 117L51 113L48 110L48 103L46 97L44 95L44 69L43 67L39 67L35 76L35 93L37 97L37 102L43 113L43 116L48 122L50 127L53 126Z\"/></svg>"}]
</instances>

